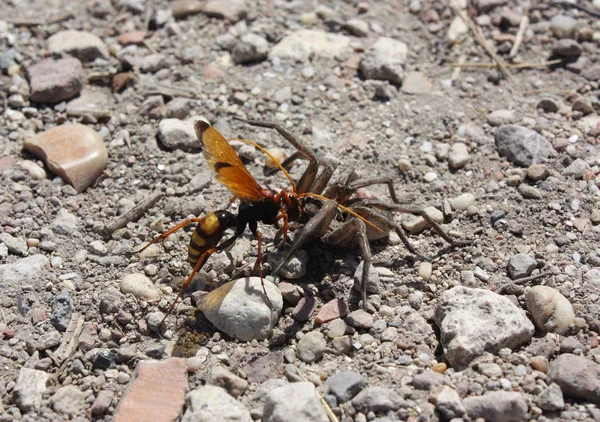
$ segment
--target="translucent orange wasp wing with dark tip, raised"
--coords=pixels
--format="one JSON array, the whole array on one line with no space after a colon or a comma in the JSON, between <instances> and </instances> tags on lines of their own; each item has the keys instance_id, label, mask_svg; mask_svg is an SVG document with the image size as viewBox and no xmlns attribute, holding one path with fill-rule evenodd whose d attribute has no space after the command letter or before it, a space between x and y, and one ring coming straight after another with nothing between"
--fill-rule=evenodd
<instances>
[{"instance_id":1,"label":"translucent orange wasp wing with dark tip, raised","mask_svg":"<svg viewBox=\"0 0 600 422\"><path fill-rule=\"evenodd\" d=\"M217 129L204 120L196 121L194 129L204 148L204 161L220 183L241 200L255 202L265 197L258 182Z\"/></svg>"}]
</instances>

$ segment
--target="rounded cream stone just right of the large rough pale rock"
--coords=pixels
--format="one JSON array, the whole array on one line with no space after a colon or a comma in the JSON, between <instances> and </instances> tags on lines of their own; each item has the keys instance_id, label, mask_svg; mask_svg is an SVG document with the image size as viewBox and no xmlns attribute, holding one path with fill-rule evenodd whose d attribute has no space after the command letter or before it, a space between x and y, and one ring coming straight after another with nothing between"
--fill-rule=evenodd
<instances>
[{"instance_id":1,"label":"rounded cream stone just right of the large rough pale rock","mask_svg":"<svg viewBox=\"0 0 600 422\"><path fill-rule=\"evenodd\" d=\"M535 325L544 332L566 334L575 322L571 302L558 290L534 286L527 292L527 310Z\"/></svg>"}]
</instances>

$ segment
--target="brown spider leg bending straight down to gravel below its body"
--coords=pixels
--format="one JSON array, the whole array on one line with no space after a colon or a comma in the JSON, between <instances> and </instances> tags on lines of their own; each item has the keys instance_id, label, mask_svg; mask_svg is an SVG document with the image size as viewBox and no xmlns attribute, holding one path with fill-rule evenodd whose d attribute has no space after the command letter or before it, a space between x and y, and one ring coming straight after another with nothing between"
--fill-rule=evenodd
<instances>
[{"instance_id":1,"label":"brown spider leg bending straight down to gravel below its body","mask_svg":"<svg viewBox=\"0 0 600 422\"><path fill-rule=\"evenodd\" d=\"M356 245L358 242L360 256L363 260L363 271L361 275L360 287L362 292L363 309L366 311L369 304L367 298L367 287L373 255L371 254L371 247L369 246L369 239L367 238L367 227L365 226L365 222L358 218L352 218L334 231L325 234L323 241L325 243L341 246Z\"/></svg>"}]
</instances>

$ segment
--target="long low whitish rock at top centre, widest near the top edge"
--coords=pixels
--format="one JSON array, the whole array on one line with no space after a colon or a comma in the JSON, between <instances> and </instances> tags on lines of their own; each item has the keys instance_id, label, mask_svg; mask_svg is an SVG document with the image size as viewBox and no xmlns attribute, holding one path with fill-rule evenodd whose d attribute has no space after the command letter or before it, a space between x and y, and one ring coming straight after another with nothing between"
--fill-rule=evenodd
<instances>
[{"instance_id":1,"label":"long low whitish rock at top centre, widest near the top edge","mask_svg":"<svg viewBox=\"0 0 600 422\"><path fill-rule=\"evenodd\" d=\"M345 57L350 53L351 38L319 30L301 29L283 38L275 45L269 58L305 62L309 57L325 59Z\"/></svg>"}]
</instances>

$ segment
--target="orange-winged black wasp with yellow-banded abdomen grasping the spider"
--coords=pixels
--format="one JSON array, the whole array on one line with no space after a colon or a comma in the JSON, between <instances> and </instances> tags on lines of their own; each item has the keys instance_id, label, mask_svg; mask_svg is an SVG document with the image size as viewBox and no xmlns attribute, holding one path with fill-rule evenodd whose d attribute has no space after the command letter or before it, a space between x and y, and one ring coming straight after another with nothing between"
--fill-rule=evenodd
<instances>
[{"instance_id":1,"label":"orange-winged black wasp with yellow-banded abdomen grasping the spider","mask_svg":"<svg viewBox=\"0 0 600 422\"><path fill-rule=\"evenodd\" d=\"M290 181L292 186L291 191L284 189L280 192L275 192L267 187L261 186L254 179L246 166L244 166L242 163L240 157L237 155L233 147L229 144L229 142L227 142L223 135L217 131L217 129L210 125L208 121L202 119L197 120L194 123L194 131L198 140L202 144L204 161L216 174L216 180L222 183L233 195L230 203L237 199L240 201L240 204L237 215L229 212L228 210L218 210L213 211L201 218L191 218L185 220L160 236L154 238L150 243L140 250L141 252L154 243L164 242L165 239L174 232L182 229L188 224L196 223L196 228L192 233L192 237L188 246L188 262L192 266L193 270L183 283L183 286L167 311L165 318L172 312L175 304L192 282L194 275L202 269L210 255L232 246L235 241L246 231L246 228L249 228L250 232L258 240L257 264L259 268L259 275L262 281L262 233L258 230L258 223L262 222L263 224L267 225L277 225L279 221L282 221L282 230L285 242L287 237L288 222L300 222L306 220L307 218L304 209L304 198L312 196L322 200L327 200L327 198L319 194L304 191L305 189L308 189L307 184L312 184L313 182L312 179L314 178L314 175L312 174L312 167L305 172L305 175L299 181L299 186L302 189L302 193L298 193L299 190L288 172L268 151L254 142L240 139L241 141L253 145L268 155L279 166L279 168ZM302 150L302 146L298 146L300 150ZM309 151L305 154L309 154L312 158L317 160L312 151ZM318 170L318 166L316 169ZM359 216L348 208L344 206L340 207L359 219L364 220L373 228L381 230L373 223L366 221L363 217ZM229 229L234 231L233 235L223 240L226 231ZM264 289L264 282L263 292L266 300L268 301L269 299Z\"/></svg>"}]
</instances>

